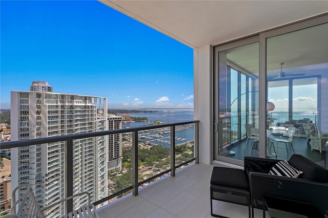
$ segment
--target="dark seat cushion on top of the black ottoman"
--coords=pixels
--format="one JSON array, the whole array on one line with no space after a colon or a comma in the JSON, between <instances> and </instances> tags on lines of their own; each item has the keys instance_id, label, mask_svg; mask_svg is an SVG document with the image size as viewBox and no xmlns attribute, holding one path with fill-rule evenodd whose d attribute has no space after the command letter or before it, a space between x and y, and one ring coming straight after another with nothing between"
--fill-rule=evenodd
<instances>
[{"instance_id":1,"label":"dark seat cushion on top of the black ottoman","mask_svg":"<svg viewBox=\"0 0 328 218\"><path fill-rule=\"evenodd\" d=\"M211 184L241 189L249 188L246 173L242 169L228 167L213 167Z\"/></svg>"}]
</instances>

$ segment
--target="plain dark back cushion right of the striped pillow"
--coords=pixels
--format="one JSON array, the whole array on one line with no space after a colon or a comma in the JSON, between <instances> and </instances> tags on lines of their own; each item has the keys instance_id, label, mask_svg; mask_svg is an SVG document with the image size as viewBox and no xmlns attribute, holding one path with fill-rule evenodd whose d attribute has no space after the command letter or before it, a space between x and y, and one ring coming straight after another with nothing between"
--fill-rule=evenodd
<instances>
[{"instance_id":1,"label":"plain dark back cushion right of the striped pillow","mask_svg":"<svg viewBox=\"0 0 328 218\"><path fill-rule=\"evenodd\" d=\"M303 173L298 177L318 182L328 182L328 170L301 155L292 155L289 164Z\"/></svg>"}]
</instances>

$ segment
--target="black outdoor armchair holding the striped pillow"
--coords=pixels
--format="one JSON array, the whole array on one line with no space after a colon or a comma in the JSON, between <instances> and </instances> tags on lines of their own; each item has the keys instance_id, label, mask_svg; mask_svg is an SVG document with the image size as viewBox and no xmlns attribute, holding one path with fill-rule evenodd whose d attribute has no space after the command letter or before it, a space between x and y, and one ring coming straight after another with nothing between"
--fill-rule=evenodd
<instances>
[{"instance_id":1,"label":"black outdoor armchair holding the striped pillow","mask_svg":"<svg viewBox=\"0 0 328 218\"><path fill-rule=\"evenodd\" d=\"M283 167L285 164L281 164L282 162L288 163L288 167ZM249 175L252 211L254 208L263 209L263 195L270 195L313 204L322 217L328 217L328 170L326 168L304 156L294 154L288 161L244 157L244 170ZM292 207L292 205L285 206ZM297 211L299 208L295 209Z\"/></svg>"}]
</instances>

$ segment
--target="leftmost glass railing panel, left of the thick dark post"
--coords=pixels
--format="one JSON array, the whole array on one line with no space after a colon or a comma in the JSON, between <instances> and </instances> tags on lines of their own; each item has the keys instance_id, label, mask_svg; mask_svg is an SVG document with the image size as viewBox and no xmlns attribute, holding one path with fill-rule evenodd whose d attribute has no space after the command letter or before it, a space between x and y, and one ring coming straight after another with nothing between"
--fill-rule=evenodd
<instances>
[{"instance_id":1,"label":"leftmost glass railing panel, left of the thick dark post","mask_svg":"<svg viewBox=\"0 0 328 218\"><path fill-rule=\"evenodd\" d=\"M7 189L30 184L40 207L64 198L61 190L65 186L65 141L6 149L1 155L1 182L10 183L6 185ZM24 192L24 189L18 189L15 198ZM9 201L4 205L2 215L9 213L13 203L10 201L13 198L11 190L6 190L6 193L5 199ZM46 211L47 217L57 217L58 211L64 215L60 213L64 212L63 204Z\"/></svg>"}]
</instances>

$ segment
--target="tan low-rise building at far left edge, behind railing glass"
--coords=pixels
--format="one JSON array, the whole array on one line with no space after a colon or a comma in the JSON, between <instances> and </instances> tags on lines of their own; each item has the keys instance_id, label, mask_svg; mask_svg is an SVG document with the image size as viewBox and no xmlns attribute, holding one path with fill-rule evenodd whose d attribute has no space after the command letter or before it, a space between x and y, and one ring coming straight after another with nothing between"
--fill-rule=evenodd
<instances>
[{"instance_id":1,"label":"tan low-rise building at far left edge, behind railing glass","mask_svg":"<svg viewBox=\"0 0 328 218\"><path fill-rule=\"evenodd\" d=\"M0 212L10 209L11 205L11 165L10 160L3 158L0 166Z\"/></svg>"}]
</instances>

